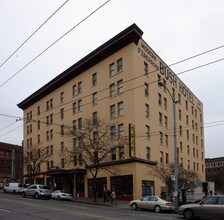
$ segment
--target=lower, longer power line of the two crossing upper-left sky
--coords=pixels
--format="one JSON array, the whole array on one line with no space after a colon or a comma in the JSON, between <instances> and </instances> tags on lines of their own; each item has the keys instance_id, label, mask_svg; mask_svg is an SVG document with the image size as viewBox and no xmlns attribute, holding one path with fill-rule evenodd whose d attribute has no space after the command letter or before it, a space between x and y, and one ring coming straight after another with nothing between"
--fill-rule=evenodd
<instances>
[{"instance_id":1,"label":"lower, longer power line of the two crossing upper-left sky","mask_svg":"<svg viewBox=\"0 0 224 220\"><path fill-rule=\"evenodd\" d=\"M30 62L28 62L25 66L23 66L19 71L17 71L15 74L13 74L10 78L8 78L5 82L3 82L0 87L4 86L7 82L9 82L12 78L14 78L17 74L19 74L22 70L24 70L27 66L29 66L32 62L34 62L38 57L40 57L43 53L45 53L47 50L49 50L53 45L55 45L58 41L60 41L62 38L64 38L67 34L69 34L72 30L74 30L76 27L78 27L81 23L83 23L86 19L91 17L93 14L95 14L99 9L101 9L104 5L106 5L110 0L104 2L101 6L99 6L97 9L95 9L93 12L91 12L89 15L87 15L84 19L82 19L80 22L78 22L75 26L73 26L70 30L68 30L65 34L63 34L61 37L59 37L56 41L54 41L50 46L48 46L45 50L40 52L36 57L34 57Z\"/></svg>"}]
</instances>

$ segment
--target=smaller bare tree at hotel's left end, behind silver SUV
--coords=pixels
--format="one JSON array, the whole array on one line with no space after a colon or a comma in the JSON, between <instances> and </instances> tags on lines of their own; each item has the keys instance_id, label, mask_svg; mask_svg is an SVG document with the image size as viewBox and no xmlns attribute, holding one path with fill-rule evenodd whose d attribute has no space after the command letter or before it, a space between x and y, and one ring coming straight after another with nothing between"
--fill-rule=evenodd
<instances>
[{"instance_id":1,"label":"smaller bare tree at hotel's left end, behind silver SUV","mask_svg":"<svg viewBox=\"0 0 224 220\"><path fill-rule=\"evenodd\" d=\"M35 175L40 172L40 166L48 161L49 153L47 151L47 148L39 144L24 148L24 168L32 183Z\"/></svg>"}]
</instances>

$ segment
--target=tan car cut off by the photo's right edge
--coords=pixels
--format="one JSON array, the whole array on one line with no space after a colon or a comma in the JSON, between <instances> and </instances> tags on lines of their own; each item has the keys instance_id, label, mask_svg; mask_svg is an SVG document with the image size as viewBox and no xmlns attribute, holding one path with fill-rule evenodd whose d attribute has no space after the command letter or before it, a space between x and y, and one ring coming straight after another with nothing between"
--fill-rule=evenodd
<instances>
[{"instance_id":1,"label":"tan car cut off by the photo's right edge","mask_svg":"<svg viewBox=\"0 0 224 220\"><path fill-rule=\"evenodd\" d=\"M224 218L224 195L210 196L198 203L182 205L178 213L185 219L223 219Z\"/></svg>"}]
</instances>

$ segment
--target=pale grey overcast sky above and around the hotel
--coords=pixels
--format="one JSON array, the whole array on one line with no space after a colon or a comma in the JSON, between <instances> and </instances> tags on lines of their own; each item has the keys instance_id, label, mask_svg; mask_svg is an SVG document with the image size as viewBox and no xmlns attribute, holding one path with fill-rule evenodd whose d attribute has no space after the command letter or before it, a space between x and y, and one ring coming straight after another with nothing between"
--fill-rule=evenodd
<instances>
[{"instance_id":1,"label":"pale grey overcast sky above and around the hotel","mask_svg":"<svg viewBox=\"0 0 224 220\"><path fill-rule=\"evenodd\" d=\"M1 0L0 65L64 2ZM0 67L0 85L105 2L69 0ZM22 142L18 103L133 23L168 65L224 45L223 0L110 0L0 87L0 142ZM172 69L180 73L223 58L224 47ZM205 156L210 158L224 156L223 69L220 61L179 75L204 105Z\"/></svg>"}]
</instances>

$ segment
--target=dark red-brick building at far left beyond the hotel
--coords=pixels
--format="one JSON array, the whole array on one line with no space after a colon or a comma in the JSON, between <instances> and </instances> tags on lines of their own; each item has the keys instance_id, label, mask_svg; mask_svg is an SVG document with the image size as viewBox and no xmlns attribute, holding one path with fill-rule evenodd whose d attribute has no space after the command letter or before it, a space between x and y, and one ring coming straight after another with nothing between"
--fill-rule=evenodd
<instances>
[{"instance_id":1,"label":"dark red-brick building at far left beyond the hotel","mask_svg":"<svg viewBox=\"0 0 224 220\"><path fill-rule=\"evenodd\" d=\"M0 183L22 180L22 146L0 142Z\"/></svg>"}]
</instances>

